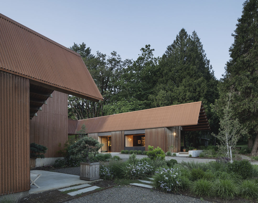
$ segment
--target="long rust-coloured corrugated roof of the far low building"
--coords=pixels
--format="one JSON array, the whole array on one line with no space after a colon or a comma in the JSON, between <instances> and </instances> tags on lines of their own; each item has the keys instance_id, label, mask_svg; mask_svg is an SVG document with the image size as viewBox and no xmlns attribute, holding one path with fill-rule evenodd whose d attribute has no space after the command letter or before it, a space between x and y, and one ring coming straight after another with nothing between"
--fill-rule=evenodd
<instances>
[{"instance_id":1,"label":"long rust-coloured corrugated roof of the far low building","mask_svg":"<svg viewBox=\"0 0 258 203\"><path fill-rule=\"evenodd\" d=\"M101 116L77 121L76 131L85 124L87 133L110 132L119 130L149 129L171 126L186 126L188 131L209 130L206 117L202 128L199 128L199 117L205 114L201 102L179 104L133 111L109 116ZM201 121L201 122L204 122ZM192 126L192 128L189 128Z\"/></svg>"}]
</instances>

